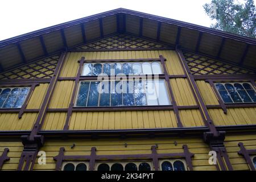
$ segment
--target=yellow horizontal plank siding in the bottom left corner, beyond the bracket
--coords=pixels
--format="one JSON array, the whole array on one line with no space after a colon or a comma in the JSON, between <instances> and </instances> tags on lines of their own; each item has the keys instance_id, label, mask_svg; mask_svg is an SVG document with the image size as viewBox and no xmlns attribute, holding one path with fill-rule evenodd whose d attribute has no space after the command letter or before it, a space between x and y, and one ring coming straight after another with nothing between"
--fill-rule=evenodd
<instances>
[{"instance_id":1,"label":"yellow horizontal plank siding in the bottom left corner, beyond the bracket","mask_svg":"<svg viewBox=\"0 0 256 182\"><path fill-rule=\"evenodd\" d=\"M10 160L3 164L0 171L16 170L18 168L19 159L22 154L23 144L22 142L0 139L0 156L2 155L2 152L5 150L5 148L9 148L7 155L9 156Z\"/></svg>"}]
</instances>

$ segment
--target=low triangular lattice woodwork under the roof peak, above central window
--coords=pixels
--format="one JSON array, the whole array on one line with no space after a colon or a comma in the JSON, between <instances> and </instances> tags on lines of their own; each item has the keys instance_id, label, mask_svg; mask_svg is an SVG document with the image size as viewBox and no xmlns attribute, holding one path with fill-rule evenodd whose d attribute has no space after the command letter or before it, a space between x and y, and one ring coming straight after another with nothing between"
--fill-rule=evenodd
<instances>
[{"instance_id":1,"label":"low triangular lattice woodwork under the roof peak, above central window","mask_svg":"<svg viewBox=\"0 0 256 182\"><path fill-rule=\"evenodd\" d=\"M162 48L167 47L160 43L150 42L135 38L130 35L114 35L109 38L98 40L97 42L85 44L76 49L118 49L118 48Z\"/></svg>"}]
</instances>

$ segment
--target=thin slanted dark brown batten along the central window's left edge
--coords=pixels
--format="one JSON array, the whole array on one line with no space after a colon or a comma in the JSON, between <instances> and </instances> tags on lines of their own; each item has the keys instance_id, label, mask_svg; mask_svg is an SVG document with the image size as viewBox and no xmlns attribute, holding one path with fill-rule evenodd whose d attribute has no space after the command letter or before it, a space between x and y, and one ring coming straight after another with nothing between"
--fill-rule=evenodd
<instances>
[{"instance_id":1,"label":"thin slanted dark brown batten along the central window's left edge","mask_svg":"<svg viewBox=\"0 0 256 182\"><path fill-rule=\"evenodd\" d=\"M79 84L79 78L81 76L82 66L84 65L84 62L85 62L84 57L81 57L81 60L79 60L78 62L79 62L79 69L77 71L76 80L75 80L75 86L73 88L73 92L72 92L72 96L71 96L71 101L70 101L69 106L68 106L68 114L67 114L67 119L65 121L64 130L68 130L68 128L69 128L69 120L71 118L72 108L73 108L74 102L75 102L77 86Z\"/></svg>"}]
</instances>

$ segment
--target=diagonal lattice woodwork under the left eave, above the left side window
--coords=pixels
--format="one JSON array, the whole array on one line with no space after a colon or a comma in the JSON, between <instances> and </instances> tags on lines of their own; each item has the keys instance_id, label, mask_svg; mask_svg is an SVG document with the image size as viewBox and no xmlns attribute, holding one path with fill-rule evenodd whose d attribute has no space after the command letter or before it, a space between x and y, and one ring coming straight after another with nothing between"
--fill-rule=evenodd
<instances>
[{"instance_id":1,"label":"diagonal lattice woodwork under the left eave, above the left side window","mask_svg":"<svg viewBox=\"0 0 256 182\"><path fill-rule=\"evenodd\" d=\"M1 73L0 80L24 78L51 78L57 66L59 57L59 55L55 55L52 57L48 57L47 59L42 59L33 63L28 63L19 68L15 68L11 71Z\"/></svg>"}]
</instances>

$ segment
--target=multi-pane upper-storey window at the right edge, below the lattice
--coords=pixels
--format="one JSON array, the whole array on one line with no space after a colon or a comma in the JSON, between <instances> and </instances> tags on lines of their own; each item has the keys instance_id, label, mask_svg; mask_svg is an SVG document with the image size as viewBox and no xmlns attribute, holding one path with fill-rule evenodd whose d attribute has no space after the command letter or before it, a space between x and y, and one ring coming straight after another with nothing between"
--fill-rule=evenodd
<instances>
[{"instance_id":1,"label":"multi-pane upper-storey window at the right edge, below the lattice","mask_svg":"<svg viewBox=\"0 0 256 182\"><path fill-rule=\"evenodd\" d=\"M256 102L254 86L249 82L217 82L215 87L225 104Z\"/></svg>"}]
</instances>

